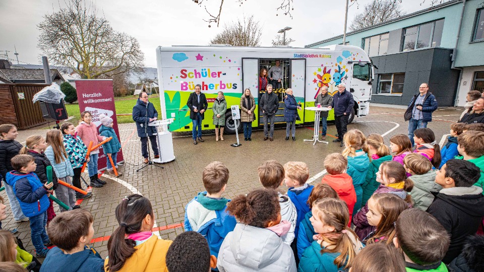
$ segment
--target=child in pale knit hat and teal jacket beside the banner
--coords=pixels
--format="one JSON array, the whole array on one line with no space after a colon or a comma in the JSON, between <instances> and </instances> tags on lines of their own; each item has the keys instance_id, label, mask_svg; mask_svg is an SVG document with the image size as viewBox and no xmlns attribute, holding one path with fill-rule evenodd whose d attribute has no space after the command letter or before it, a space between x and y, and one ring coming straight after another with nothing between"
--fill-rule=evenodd
<instances>
[{"instance_id":1,"label":"child in pale knit hat and teal jacket beside the banner","mask_svg":"<svg viewBox=\"0 0 484 272\"><path fill-rule=\"evenodd\" d=\"M121 151L121 143L119 143L119 139L117 139L116 133L114 132L114 129L112 128L112 118L109 116L106 116L105 114L99 115L99 119L101 119L101 127L99 127L99 134L101 136L104 136L106 138L112 137L112 140L103 144L102 149L103 152L106 156L111 156L112 162L114 163L114 167L117 169L117 153ZM109 174L113 175L114 170L112 168L111 163L109 162L109 158L107 158L107 171ZM118 176L123 175L123 173L120 173L117 171Z\"/></svg>"}]
</instances>

